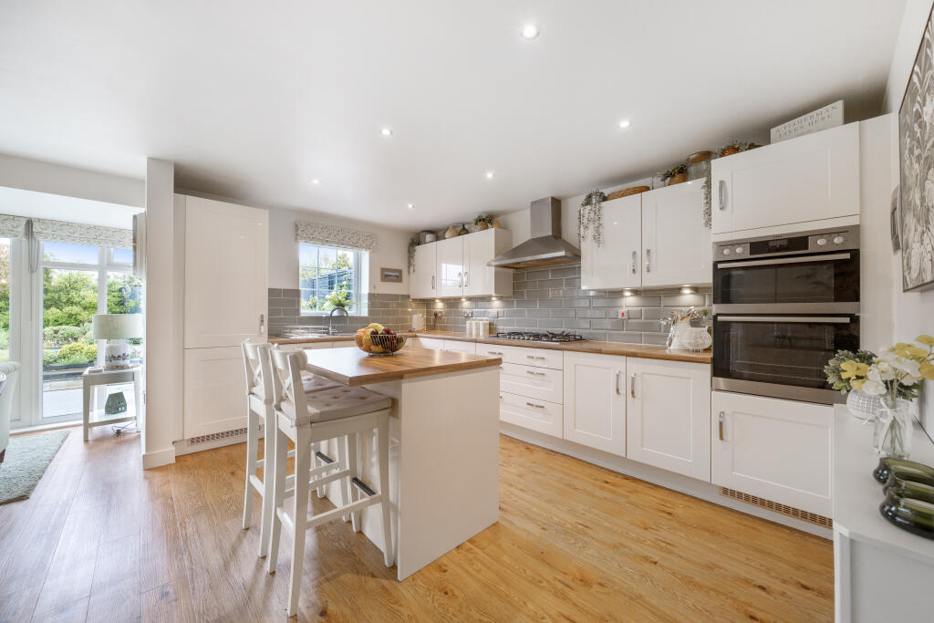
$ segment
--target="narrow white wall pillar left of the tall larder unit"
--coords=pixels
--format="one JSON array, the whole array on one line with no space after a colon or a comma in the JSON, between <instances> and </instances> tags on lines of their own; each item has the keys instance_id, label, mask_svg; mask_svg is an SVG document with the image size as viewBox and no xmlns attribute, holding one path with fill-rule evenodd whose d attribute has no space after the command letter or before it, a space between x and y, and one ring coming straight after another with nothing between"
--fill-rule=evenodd
<instances>
[{"instance_id":1,"label":"narrow white wall pillar left of the tall larder unit","mask_svg":"<svg viewBox=\"0 0 934 623\"><path fill-rule=\"evenodd\" d=\"M182 303L176 279L175 164L146 162L146 399L143 467L175 462L173 441L181 413L178 374L181 328L173 321Z\"/></svg>"}]
</instances>

